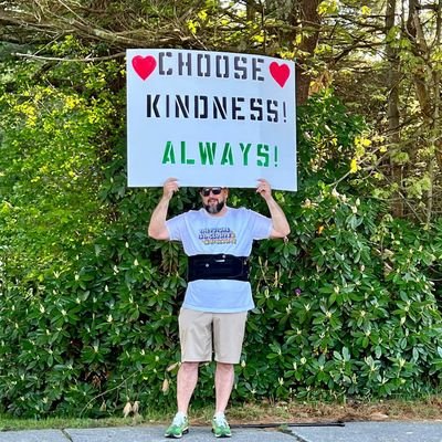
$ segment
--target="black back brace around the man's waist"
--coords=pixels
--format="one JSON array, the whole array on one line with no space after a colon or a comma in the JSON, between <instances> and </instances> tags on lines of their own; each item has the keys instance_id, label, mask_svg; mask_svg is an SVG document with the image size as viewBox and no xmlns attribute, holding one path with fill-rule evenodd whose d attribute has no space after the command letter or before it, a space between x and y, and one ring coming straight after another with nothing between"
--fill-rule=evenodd
<instances>
[{"instance_id":1,"label":"black back brace around the man's waist","mask_svg":"<svg viewBox=\"0 0 442 442\"><path fill-rule=\"evenodd\" d=\"M189 256L187 281L236 280L249 281L249 257L228 254Z\"/></svg>"}]
</instances>

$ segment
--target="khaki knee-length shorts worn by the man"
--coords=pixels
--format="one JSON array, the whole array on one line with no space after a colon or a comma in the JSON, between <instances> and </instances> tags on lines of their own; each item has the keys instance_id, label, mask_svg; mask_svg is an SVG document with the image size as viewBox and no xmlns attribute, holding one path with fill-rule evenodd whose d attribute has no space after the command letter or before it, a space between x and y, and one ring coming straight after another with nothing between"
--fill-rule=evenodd
<instances>
[{"instance_id":1,"label":"khaki knee-length shorts worn by the man","mask_svg":"<svg viewBox=\"0 0 442 442\"><path fill-rule=\"evenodd\" d=\"M208 313L181 308L178 325L182 362L238 364L248 312ZM213 348L212 348L213 343Z\"/></svg>"}]
</instances>

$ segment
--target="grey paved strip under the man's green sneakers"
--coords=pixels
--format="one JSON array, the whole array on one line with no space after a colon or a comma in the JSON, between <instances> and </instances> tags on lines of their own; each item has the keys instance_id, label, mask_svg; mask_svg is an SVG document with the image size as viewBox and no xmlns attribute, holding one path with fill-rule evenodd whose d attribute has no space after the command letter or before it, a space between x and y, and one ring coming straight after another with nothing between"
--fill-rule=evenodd
<instances>
[{"instance_id":1,"label":"grey paved strip under the man's green sneakers","mask_svg":"<svg viewBox=\"0 0 442 442\"><path fill-rule=\"evenodd\" d=\"M442 421L350 422L344 427L233 428L232 442L442 442ZM0 432L0 442L167 442L164 427ZM213 442L207 427L191 427L183 442Z\"/></svg>"}]
</instances>

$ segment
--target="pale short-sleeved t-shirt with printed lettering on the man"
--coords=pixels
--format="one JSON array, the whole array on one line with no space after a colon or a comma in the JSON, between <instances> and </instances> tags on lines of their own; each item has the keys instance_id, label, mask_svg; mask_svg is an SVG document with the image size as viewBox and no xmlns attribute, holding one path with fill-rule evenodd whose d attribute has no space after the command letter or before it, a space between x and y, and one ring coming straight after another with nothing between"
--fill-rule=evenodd
<instances>
[{"instance_id":1,"label":"pale short-sleeved t-shirt with printed lettering on the man","mask_svg":"<svg viewBox=\"0 0 442 442\"><path fill-rule=\"evenodd\" d=\"M249 209L228 210L223 217L191 210L166 222L171 241L181 241L188 256L225 253L249 256L253 240L270 238L272 220ZM246 312L254 307L249 282L197 280L188 284L185 308L213 313Z\"/></svg>"}]
</instances>

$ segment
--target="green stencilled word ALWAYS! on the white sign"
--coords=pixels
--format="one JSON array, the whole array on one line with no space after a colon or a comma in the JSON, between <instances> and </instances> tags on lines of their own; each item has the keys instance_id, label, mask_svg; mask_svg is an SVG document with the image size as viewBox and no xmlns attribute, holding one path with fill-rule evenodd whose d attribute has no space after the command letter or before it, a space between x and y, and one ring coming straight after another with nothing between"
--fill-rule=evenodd
<instances>
[{"instance_id":1,"label":"green stencilled word ALWAYS! on the white sign","mask_svg":"<svg viewBox=\"0 0 442 442\"><path fill-rule=\"evenodd\" d=\"M188 146L186 141L173 145L167 141L162 161L164 165L199 165L199 166L259 166L277 167L277 146L265 144L207 143Z\"/></svg>"}]
</instances>

